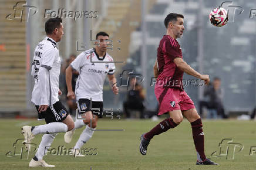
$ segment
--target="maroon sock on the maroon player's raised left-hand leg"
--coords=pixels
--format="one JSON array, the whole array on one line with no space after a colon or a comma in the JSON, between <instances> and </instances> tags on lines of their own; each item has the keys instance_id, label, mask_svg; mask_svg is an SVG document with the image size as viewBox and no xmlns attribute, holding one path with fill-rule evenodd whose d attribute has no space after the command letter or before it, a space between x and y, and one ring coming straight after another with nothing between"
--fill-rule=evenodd
<instances>
[{"instance_id":1,"label":"maroon sock on the maroon player's raised left-hand leg","mask_svg":"<svg viewBox=\"0 0 256 170\"><path fill-rule=\"evenodd\" d=\"M151 131L147 132L144 135L144 138L147 140L151 140L151 138L154 137L154 135L159 135L162 132L166 132L170 128L176 127L177 124L174 123L172 118L166 118L165 120L161 121L159 124L157 124Z\"/></svg>"}]
</instances>

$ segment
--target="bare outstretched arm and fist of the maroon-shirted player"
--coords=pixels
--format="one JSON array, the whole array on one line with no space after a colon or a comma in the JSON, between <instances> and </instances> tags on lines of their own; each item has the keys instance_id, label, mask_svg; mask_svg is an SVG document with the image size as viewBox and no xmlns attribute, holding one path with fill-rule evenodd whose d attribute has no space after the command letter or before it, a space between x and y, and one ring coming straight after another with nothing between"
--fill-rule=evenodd
<instances>
[{"instance_id":1,"label":"bare outstretched arm and fist of the maroon-shirted player","mask_svg":"<svg viewBox=\"0 0 256 170\"><path fill-rule=\"evenodd\" d=\"M185 72L191 76L197 77L198 79L204 80L205 84L210 83L209 75L198 73L196 70L194 70L192 67L190 67L190 65L188 65L186 62L184 62L184 60L181 59L181 57L176 57L175 59L173 59L173 62L176 64L178 69L182 70L183 72Z\"/></svg>"}]
</instances>

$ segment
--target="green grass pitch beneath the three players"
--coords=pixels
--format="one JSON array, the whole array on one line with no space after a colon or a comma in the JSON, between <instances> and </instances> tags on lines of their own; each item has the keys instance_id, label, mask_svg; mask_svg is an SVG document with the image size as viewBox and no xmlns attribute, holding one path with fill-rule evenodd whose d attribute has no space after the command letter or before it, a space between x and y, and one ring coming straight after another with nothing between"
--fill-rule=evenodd
<instances>
[{"instance_id":1,"label":"green grass pitch beneath the three players","mask_svg":"<svg viewBox=\"0 0 256 170\"><path fill-rule=\"evenodd\" d=\"M143 132L149 131L159 121L150 120L100 120L97 129L124 129L125 131L95 131L93 137L82 148L97 148L97 155L73 158L68 155L46 155L43 159L55 165L55 169L255 169L256 154L250 155L250 147L256 147L255 121L204 121L206 155L218 166L195 165L196 151L190 123L183 121L177 128L157 135L151 140L147 155L139 152L139 138ZM13 143L23 138L23 125L39 125L43 121L36 120L0 120L0 169L28 169L29 159L6 157L8 151L14 151ZM72 148L84 128L76 130L70 144L65 144L64 133L60 133L53 141L52 148L65 145ZM33 143L39 145L42 135L37 135ZM244 145L234 159L211 157L218 151L218 144L224 138L232 138L233 142ZM238 148L237 150L238 151ZM91 167L91 168L90 168ZM39 168L34 168L39 169ZM42 168L40 168L42 169Z\"/></svg>"}]
</instances>

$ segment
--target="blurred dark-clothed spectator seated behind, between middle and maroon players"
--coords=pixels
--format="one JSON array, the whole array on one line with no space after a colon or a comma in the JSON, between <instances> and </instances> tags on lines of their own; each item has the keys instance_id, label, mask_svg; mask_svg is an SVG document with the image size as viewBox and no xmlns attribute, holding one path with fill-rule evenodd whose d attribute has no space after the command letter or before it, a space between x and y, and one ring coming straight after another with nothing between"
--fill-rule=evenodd
<instances>
[{"instance_id":1,"label":"blurred dark-clothed spectator seated behind, between middle and maroon players","mask_svg":"<svg viewBox=\"0 0 256 170\"><path fill-rule=\"evenodd\" d=\"M127 100L123 103L124 114L126 118L130 118L130 111L137 110L140 112L140 118L144 118L144 104L145 94L143 87L137 84L136 78L130 79L129 90L127 91Z\"/></svg>"}]
</instances>

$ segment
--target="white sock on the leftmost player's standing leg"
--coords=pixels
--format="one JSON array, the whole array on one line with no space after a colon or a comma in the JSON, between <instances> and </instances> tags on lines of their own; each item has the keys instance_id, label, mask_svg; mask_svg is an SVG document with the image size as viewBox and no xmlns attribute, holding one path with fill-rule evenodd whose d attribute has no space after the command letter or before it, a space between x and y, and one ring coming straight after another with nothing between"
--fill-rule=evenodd
<instances>
[{"instance_id":1,"label":"white sock on the leftmost player's standing leg","mask_svg":"<svg viewBox=\"0 0 256 170\"><path fill-rule=\"evenodd\" d=\"M55 139L55 136L57 134L44 134L42 137L42 141L38 147L38 151L36 151L36 158L38 160L43 159L43 156L47 153L47 148L50 148L50 145L52 144L53 140Z\"/></svg>"}]
</instances>

